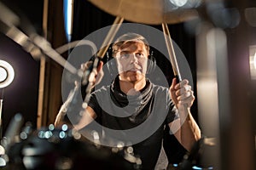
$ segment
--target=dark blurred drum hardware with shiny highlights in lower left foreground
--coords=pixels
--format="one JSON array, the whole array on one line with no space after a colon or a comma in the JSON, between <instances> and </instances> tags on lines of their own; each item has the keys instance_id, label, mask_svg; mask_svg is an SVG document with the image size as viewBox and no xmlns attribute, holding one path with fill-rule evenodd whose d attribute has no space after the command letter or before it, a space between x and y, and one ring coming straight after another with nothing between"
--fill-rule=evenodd
<instances>
[{"instance_id":1,"label":"dark blurred drum hardware with shiny highlights in lower left foreground","mask_svg":"<svg viewBox=\"0 0 256 170\"><path fill-rule=\"evenodd\" d=\"M16 129L16 128L15 128ZM97 137L96 137L97 138ZM100 139L99 139L100 141ZM119 145L120 146L120 145ZM141 161L132 148L105 147L82 140L82 135L63 125L32 131L31 124L20 132L20 139L9 145L7 169L140 169Z\"/></svg>"}]
</instances>

